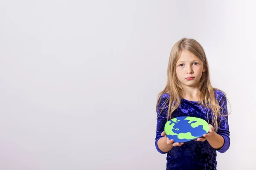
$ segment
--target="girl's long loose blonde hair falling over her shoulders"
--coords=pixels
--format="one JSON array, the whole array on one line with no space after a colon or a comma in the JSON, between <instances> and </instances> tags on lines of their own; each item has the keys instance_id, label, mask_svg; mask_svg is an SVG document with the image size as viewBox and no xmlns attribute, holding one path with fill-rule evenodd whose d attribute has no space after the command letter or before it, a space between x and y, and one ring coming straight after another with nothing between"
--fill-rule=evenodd
<instances>
[{"instance_id":1,"label":"girl's long loose blonde hair falling over her shoulders","mask_svg":"<svg viewBox=\"0 0 256 170\"><path fill-rule=\"evenodd\" d=\"M182 86L179 80L177 79L175 65L183 50L190 51L192 54L197 56L204 63L204 68L206 68L206 71L203 72L199 82L199 90L201 91L201 94L199 95L199 99L200 99L199 103L200 105L203 105L204 107L208 108L207 117L208 117L209 109L212 110L213 115L212 115L211 124L214 127L214 130L217 131L218 116L223 116L221 115L221 109L223 108L219 106L217 99L215 99L215 93L214 93L214 90L219 90L219 89L212 87L210 78L209 78L209 67L208 67L207 57L204 52L204 48L199 44L199 42L197 42L194 39L182 38L181 40L176 42L175 45L172 47L170 58L169 58L168 69L167 69L167 83L166 83L166 87L163 89L163 91L159 93L157 97L157 107L158 107L160 97L165 93L170 94L168 114L167 114L167 121L168 121L169 118L170 119L172 118L172 113L180 105L181 97L184 95L184 91L182 89ZM224 93L224 91L222 92ZM209 119L208 119L208 123L209 123Z\"/></svg>"}]
</instances>

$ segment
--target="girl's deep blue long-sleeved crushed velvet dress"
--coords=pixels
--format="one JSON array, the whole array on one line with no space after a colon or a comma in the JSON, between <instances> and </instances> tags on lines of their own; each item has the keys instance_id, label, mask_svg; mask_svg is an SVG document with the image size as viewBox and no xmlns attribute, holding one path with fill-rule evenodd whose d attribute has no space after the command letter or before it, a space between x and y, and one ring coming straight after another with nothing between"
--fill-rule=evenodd
<instances>
[{"instance_id":1,"label":"girl's deep blue long-sleeved crushed velvet dress","mask_svg":"<svg viewBox=\"0 0 256 170\"><path fill-rule=\"evenodd\" d=\"M219 105L224 108L222 110L222 115L227 115L227 99L226 96L219 90L215 90L215 98L218 100ZM169 94L165 93L161 96L158 109L157 109L157 130L156 130L156 140L155 146L158 152L163 153L157 146L157 141L163 137L161 133L164 131L164 125L167 122L167 111L169 102L164 104L166 100L169 99ZM168 100L169 101L169 100ZM166 107L167 106L167 107ZM166 107L166 108L165 108ZM162 113L160 113L161 108ZM201 119L207 120L207 108L199 105L199 102L188 101L186 99L181 99L180 106L172 113L172 118L178 116L192 116L199 117ZM212 122L212 111L209 109L209 124ZM160 114L160 115L159 115ZM198 142L195 140L185 142L180 147L172 147L172 149L167 152L166 156L166 170L216 170L217 152L224 153L228 150L230 146L230 132L228 125L228 117L223 116L218 117L218 131L217 133L224 138L224 144L220 149L214 149L210 146L209 142Z\"/></svg>"}]
</instances>

